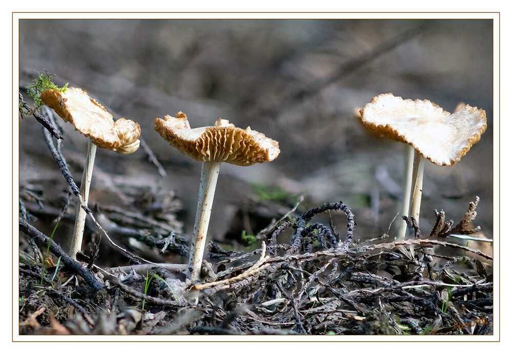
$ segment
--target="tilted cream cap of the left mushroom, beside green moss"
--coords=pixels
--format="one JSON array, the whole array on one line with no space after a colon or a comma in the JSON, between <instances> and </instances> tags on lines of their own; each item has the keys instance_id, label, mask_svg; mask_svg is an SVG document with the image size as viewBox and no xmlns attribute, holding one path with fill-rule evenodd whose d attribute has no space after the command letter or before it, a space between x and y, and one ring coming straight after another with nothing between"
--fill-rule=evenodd
<instances>
[{"instance_id":1,"label":"tilted cream cap of the left mushroom, beside green moss","mask_svg":"<svg viewBox=\"0 0 512 354\"><path fill-rule=\"evenodd\" d=\"M122 154L133 153L138 149L139 124L124 118L114 122L112 114L86 91L76 87L70 87L64 92L46 90L40 98L95 145Z\"/></svg>"}]
</instances>

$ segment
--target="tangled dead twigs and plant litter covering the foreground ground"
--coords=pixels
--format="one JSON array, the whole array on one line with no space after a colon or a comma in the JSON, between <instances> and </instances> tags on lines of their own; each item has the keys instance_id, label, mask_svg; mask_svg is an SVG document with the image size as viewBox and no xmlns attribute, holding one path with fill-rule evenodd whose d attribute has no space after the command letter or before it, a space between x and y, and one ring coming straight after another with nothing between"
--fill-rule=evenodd
<instances>
[{"instance_id":1,"label":"tangled dead twigs and plant litter covering the foreground ground","mask_svg":"<svg viewBox=\"0 0 512 354\"><path fill-rule=\"evenodd\" d=\"M457 230L466 229L474 220L475 207L476 203L470 205ZM320 213L337 211L346 214L344 237L336 232L332 220L328 225L313 222ZM230 252L211 244L210 258L215 263L203 261L202 269L208 273L204 274L203 284L184 282L185 266L173 270L157 266L148 274L158 277L152 277L145 292L146 271L137 273L125 267L116 272L116 268L110 268L112 277L107 277L106 272L96 276L104 288L78 305L66 295L73 285L57 283L53 291L62 293L60 297L55 292L43 297L28 296L21 309L25 321L20 331L203 335L492 333L493 279L492 274L487 274L492 257L438 237L392 242L378 238L354 243L354 219L344 203L327 203L295 220L272 225L265 231L262 247L254 251ZM292 231L289 242L277 243L288 231ZM29 236L32 237L30 232ZM417 258L408 258L400 246L413 247ZM36 273L37 268L23 268L25 284L23 280L33 277L29 270ZM63 269L70 270L73 271ZM94 288L94 282L85 278L79 283ZM23 294L23 286L21 290ZM197 303L187 300L191 290L197 294ZM143 300L145 311L139 306ZM54 321L50 316L56 310L52 302L62 306L60 312L72 308L78 312L68 320ZM110 309L112 315L105 317L103 308Z\"/></svg>"}]
</instances>

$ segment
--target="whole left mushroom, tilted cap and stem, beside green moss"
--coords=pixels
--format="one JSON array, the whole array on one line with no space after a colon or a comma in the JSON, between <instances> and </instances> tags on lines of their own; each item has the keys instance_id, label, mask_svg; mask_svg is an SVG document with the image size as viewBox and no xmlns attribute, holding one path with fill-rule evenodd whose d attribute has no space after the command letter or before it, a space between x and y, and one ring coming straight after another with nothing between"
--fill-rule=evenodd
<instances>
[{"instance_id":1,"label":"whole left mushroom, tilted cap and stem, beside green moss","mask_svg":"<svg viewBox=\"0 0 512 354\"><path fill-rule=\"evenodd\" d=\"M80 88L70 87L66 91L49 89L41 93L40 99L65 122L73 124L75 130L89 137L70 249L71 257L76 260L86 219L86 211L82 206L87 207L89 199L96 146L121 154L133 153L139 147L140 126L124 118L114 122L112 114Z\"/></svg>"}]
</instances>

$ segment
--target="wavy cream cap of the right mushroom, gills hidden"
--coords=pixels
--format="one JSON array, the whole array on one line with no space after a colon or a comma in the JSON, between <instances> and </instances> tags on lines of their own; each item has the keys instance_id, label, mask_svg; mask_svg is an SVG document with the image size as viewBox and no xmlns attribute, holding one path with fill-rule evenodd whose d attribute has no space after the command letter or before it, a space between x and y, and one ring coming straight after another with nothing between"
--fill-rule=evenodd
<instances>
[{"instance_id":1,"label":"wavy cream cap of the right mushroom, gills hidden","mask_svg":"<svg viewBox=\"0 0 512 354\"><path fill-rule=\"evenodd\" d=\"M465 105L450 114L430 101L403 100L392 93L373 97L361 110L361 121L441 166L459 162L487 128L482 109Z\"/></svg>"}]
</instances>

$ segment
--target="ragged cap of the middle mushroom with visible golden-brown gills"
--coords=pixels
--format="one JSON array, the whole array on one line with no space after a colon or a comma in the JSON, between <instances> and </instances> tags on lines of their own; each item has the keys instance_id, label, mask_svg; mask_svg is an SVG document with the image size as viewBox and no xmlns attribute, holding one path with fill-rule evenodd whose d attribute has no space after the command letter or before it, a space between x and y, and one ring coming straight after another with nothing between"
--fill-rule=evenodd
<instances>
[{"instance_id":1,"label":"ragged cap of the middle mushroom with visible golden-brown gills","mask_svg":"<svg viewBox=\"0 0 512 354\"><path fill-rule=\"evenodd\" d=\"M190 128L187 115L155 119L155 130L172 146L198 161L227 162L238 166L272 161L279 155L279 143L250 127L241 129L218 119L214 126Z\"/></svg>"}]
</instances>

